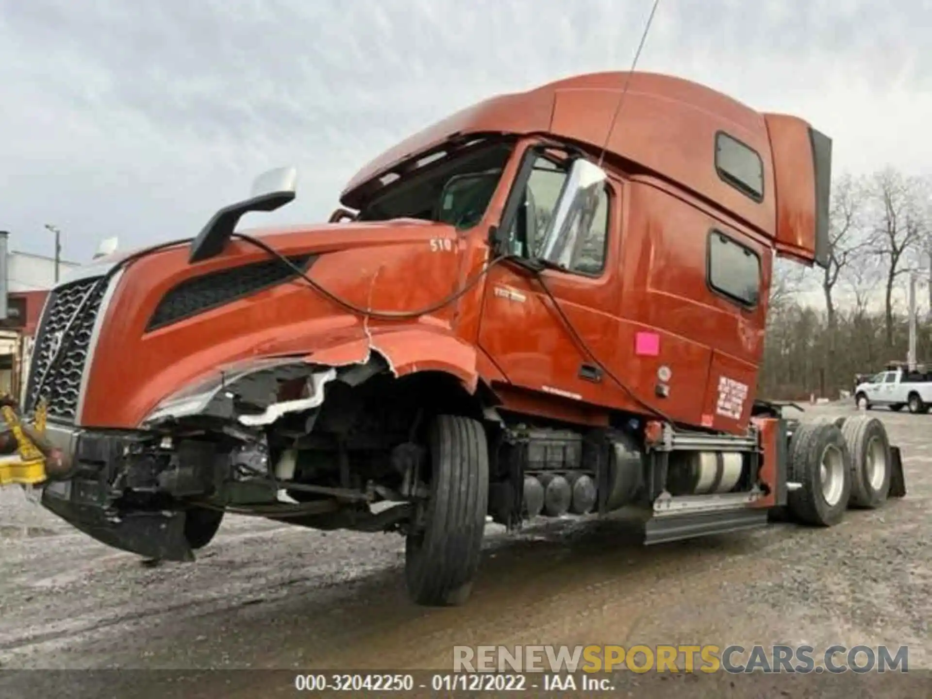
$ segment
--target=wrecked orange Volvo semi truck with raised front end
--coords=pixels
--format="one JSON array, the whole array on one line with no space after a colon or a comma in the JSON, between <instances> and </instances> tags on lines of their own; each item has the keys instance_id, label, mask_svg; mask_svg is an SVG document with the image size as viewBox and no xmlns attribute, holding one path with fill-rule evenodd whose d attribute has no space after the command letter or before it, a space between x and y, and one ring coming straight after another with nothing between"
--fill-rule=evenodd
<instances>
[{"instance_id":1,"label":"wrecked orange Volvo semi truck with raised front end","mask_svg":"<svg viewBox=\"0 0 932 699\"><path fill-rule=\"evenodd\" d=\"M604 73L421 131L324 225L238 231L294 199L267 173L53 290L42 502L171 560L225 512L397 531L424 605L467 598L489 516L634 509L655 543L878 507L905 493L883 423L755 396L774 255L828 264L830 157L800 118Z\"/></svg>"}]
</instances>

